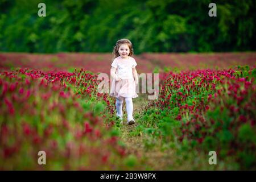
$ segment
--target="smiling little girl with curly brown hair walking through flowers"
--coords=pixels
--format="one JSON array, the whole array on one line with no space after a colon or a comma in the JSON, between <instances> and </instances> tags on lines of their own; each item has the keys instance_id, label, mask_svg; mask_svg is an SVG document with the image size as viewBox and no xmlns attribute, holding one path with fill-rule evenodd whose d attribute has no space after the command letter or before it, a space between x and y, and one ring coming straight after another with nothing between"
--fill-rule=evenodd
<instances>
[{"instance_id":1,"label":"smiling little girl with curly brown hair walking through flowers","mask_svg":"<svg viewBox=\"0 0 256 182\"><path fill-rule=\"evenodd\" d=\"M133 57L133 45L128 39L120 39L113 49L114 60L110 75L114 80L110 87L110 96L116 97L117 117L123 118L123 100L126 102L127 124L133 125L133 100L138 97L136 86L138 85L138 75L135 69L137 63Z\"/></svg>"}]
</instances>

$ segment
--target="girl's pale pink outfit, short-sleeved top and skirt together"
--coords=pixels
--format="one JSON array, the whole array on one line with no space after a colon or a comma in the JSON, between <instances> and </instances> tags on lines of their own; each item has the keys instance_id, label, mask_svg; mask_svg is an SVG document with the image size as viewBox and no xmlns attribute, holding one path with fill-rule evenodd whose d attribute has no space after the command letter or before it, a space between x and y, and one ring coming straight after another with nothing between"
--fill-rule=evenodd
<instances>
[{"instance_id":1,"label":"girl's pale pink outfit, short-sleeved top and skirt together","mask_svg":"<svg viewBox=\"0 0 256 182\"><path fill-rule=\"evenodd\" d=\"M128 59L122 59L121 56L118 56L113 60L113 63L111 65L112 67L117 68L116 74L122 80L111 80L110 96L117 98L138 97L138 94L136 93L136 84L132 71L132 68L135 68L137 65L135 59L130 56L128 57Z\"/></svg>"}]
</instances>

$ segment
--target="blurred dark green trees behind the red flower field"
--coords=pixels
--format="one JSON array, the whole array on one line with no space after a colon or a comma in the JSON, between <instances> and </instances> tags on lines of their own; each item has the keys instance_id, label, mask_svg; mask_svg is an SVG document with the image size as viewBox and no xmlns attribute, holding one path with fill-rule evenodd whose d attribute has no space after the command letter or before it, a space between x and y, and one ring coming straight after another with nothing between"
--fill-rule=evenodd
<instances>
[{"instance_id":1,"label":"blurred dark green trees behind the red flower field","mask_svg":"<svg viewBox=\"0 0 256 182\"><path fill-rule=\"evenodd\" d=\"M121 38L135 53L255 51L256 2L214 1L209 17L211 2L0 0L0 51L111 52Z\"/></svg>"}]
</instances>

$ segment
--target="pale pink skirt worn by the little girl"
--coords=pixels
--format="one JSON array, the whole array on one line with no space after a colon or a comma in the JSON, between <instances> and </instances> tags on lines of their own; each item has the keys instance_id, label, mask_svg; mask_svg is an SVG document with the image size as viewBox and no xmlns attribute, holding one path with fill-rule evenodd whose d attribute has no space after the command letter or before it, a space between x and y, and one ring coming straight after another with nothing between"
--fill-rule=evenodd
<instances>
[{"instance_id":1,"label":"pale pink skirt worn by the little girl","mask_svg":"<svg viewBox=\"0 0 256 182\"><path fill-rule=\"evenodd\" d=\"M110 86L110 96L117 98L139 97L138 94L136 93L136 84L134 78L122 79L121 81L113 80Z\"/></svg>"}]
</instances>

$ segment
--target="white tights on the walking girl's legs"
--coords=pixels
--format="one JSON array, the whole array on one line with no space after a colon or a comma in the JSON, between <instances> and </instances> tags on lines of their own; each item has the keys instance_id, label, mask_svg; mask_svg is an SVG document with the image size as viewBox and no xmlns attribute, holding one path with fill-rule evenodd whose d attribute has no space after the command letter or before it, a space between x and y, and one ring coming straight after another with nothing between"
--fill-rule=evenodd
<instances>
[{"instance_id":1,"label":"white tights on the walking girl's legs","mask_svg":"<svg viewBox=\"0 0 256 182\"><path fill-rule=\"evenodd\" d=\"M126 111L127 111L127 120L130 121L133 119L133 99L132 98L125 98L126 103ZM123 107L123 97L117 98L117 101L115 102L115 106L117 106L117 115L119 117L123 116L122 113L122 107Z\"/></svg>"}]
</instances>

